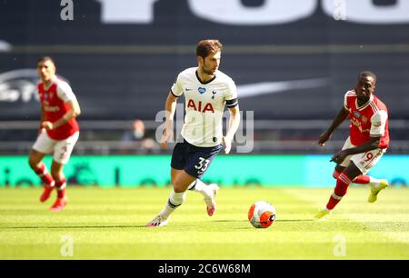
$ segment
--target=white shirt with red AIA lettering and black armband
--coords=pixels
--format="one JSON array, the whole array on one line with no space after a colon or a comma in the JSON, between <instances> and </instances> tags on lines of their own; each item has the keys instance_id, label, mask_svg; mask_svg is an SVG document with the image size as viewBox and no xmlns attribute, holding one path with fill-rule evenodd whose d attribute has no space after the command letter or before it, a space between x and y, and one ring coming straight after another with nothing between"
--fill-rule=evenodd
<instances>
[{"instance_id":1,"label":"white shirt with red AIA lettering and black armband","mask_svg":"<svg viewBox=\"0 0 409 278\"><path fill-rule=\"evenodd\" d=\"M177 75L171 92L176 97L185 94L185 140L199 147L221 144L224 105L231 108L238 104L233 79L216 71L213 79L202 83L197 67L191 67Z\"/></svg>"}]
</instances>

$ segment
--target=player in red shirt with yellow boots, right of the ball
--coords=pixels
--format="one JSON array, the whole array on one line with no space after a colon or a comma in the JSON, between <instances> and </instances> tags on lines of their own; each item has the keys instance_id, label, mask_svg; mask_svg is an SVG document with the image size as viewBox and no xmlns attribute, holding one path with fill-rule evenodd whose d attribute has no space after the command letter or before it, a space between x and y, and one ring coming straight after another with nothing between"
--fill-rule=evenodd
<instances>
[{"instance_id":1,"label":"player in red shirt with yellow boots, right of the ball","mask_svg":"<svg viewBox=\"0 0 409 278\"><path fill-rule=\"evenodd\" d=\"M344 107L319 138L318 144L324 145L334 130L349 117L351 121L349 137L343 149L331 159L336 164L334 193L315 218L327 219L351 183L369 184L371 189L369 203L374 203L377 194L388 186L386 180L377 180L366 174L378 163L389 145L388 111L386 105L374 95L375 85L375 74L360 73L354 90L344 95Z\"/></svg>"}]
</instances>

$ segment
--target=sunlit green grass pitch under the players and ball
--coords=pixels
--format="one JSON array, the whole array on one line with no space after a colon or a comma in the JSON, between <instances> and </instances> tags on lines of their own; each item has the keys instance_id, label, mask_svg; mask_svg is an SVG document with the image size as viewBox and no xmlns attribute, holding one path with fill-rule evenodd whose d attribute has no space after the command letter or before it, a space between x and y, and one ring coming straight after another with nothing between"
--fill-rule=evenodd
<instances>
[{"instance_id":1,"label":"sunlit green grass pitch under the players and ball","mask_svg":"<svg viewBox=\"0 0 409 278\"><path fill-rule=\"evenodd\" d=\"M41 189L0 189L0 259L409 259L409 190L388 188L375 204L351 186L330 220L313 221L332 189L224 188L213 217L189 192L168 226L145 228L170 188L68 188L51 213ZM274 204L277 220L255 229L247 211Z\"/></svg>"}]
</instances>

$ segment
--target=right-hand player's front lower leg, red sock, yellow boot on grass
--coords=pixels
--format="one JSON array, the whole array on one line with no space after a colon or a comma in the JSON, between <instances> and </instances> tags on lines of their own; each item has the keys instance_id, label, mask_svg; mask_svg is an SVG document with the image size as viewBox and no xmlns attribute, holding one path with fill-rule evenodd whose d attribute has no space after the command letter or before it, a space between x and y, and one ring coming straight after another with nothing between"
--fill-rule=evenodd
<instances>
[{"instance_id":1,"label":"right-hand player's front lower leg, red sock, yellow boot on grass","mask_svg":"<svg viewBox=\"0 0 409 278\"><path fill-rule=\"evenodd\" d=\"M331 194L330 199L325 207L315 215L315 218L327 219L336 204L338 204L343 199L348 190L349 184L351 184L352 180L354 180L354 178L360 174L362 174L361 170L354 164L354 162L351 162L336 178L334 193Z\"/></svg>"}]
</instances>

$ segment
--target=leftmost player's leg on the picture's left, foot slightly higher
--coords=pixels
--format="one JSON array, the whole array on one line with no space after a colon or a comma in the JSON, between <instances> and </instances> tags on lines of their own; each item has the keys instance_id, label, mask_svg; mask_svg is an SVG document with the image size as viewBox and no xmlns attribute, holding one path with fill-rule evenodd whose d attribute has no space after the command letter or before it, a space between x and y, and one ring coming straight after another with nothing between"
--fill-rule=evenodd
<instances>
[{"instance_id":1,"label":"leftmost player's leg on the picture's left, foot slightly higher","mask_svg":"<svg viewBox=\"0 0 409 278\"><path fill-rule=\"evenodd\" d=\"M45 155L53 151L54 144L55 142L43 132L37 137L28 157L28 164L44 184L44 191L40 196L41 202L45 202L49 198L55 187L55 180L43 163Z\"/></svg>"}]
</instances>

